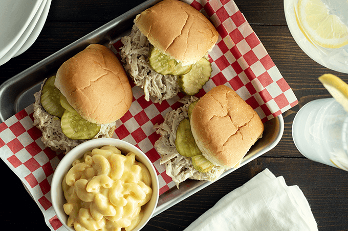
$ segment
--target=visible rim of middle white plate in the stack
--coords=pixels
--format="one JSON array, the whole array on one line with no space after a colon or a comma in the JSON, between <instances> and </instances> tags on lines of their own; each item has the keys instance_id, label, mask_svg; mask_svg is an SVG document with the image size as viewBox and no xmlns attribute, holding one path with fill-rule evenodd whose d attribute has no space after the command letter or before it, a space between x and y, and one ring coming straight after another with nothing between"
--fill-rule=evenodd
<instances>
[{"instance_id":1,"label":"visible rim of middle white plate in the stack","mask_svg":"<svg viewBox=\"0 0 348 231\"><path fill-rule=\"evenodd\" d=\"M17 40L17 42L8 50L8 52L0 58L0 66L9 61L17 52L18 50L23 46L23 44L27 41L30 34L34 30L36 23L38 22L42 11L44 11L44 8L46 6L47 0L43 0L41 2L41 5L39 9L37 10L36 14L34 15L33 19L29 23L28 27L24 31L24 33L20 36L20 38Z\"/></svg>"}]
</instances>

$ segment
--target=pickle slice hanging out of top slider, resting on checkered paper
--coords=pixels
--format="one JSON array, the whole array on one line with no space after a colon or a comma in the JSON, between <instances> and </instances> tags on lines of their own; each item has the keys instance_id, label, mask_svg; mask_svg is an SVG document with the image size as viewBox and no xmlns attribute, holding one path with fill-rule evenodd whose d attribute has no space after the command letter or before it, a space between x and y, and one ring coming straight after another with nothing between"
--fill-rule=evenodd
<instances>
[{"instance_id":1,"label":"pickle slice hanging out of top slider, resting on checkered paper","mask_svg":"<svg viewBox=\"0 0 348 231\"><path fill-rule=\"evenodd\" d=\"M202 58L192 65L190 72L179 76L178 84L180 91L186 95L197 94L208 82L211 76L211 63Z\"/></svg>"}]
</instances>

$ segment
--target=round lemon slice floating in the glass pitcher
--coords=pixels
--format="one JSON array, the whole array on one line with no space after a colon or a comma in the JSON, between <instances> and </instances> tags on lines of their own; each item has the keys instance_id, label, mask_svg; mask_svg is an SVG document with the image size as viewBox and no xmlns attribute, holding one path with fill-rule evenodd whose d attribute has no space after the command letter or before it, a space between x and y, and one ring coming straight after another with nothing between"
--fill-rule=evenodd
<instances>
[{"instance_id":1,"label":"round lemon slice floating in the glass pitcher","mask_svg":"<svg viewBox=\"0 0 348 231\"><path fill-rule=\"evenodd\" d=\"M319 46L339 48L348 44L347 25L321 0L299 0L296 21L307 39Z\"/></svg>"}]
</instances>

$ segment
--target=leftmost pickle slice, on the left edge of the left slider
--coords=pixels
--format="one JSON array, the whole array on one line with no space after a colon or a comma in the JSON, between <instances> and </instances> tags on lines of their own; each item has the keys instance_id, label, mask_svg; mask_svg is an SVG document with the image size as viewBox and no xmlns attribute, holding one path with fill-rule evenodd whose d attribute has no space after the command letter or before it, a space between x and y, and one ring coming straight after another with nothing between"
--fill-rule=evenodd
<instances>
[{"instance_id":1,"label":"leftmost pickle slice, on the left edge of the left slider","mask_svg":"<svg viewBox=\"0 0 348 231\"><path fill-rule=\"evenodd\" d=\"M56 76L53 75L45 81L41 90L40 102L47 113L61 118L65 109L60 105L60 91L54 86L55 79Z\"/></svg>"}]
</instances>

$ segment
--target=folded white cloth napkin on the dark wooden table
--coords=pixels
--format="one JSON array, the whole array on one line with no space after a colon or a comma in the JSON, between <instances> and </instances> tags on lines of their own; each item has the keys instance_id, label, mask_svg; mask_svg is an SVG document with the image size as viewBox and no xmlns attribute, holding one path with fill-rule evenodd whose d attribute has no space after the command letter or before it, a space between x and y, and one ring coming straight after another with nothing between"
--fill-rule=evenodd
<instances>
[{"instance_id":1,"label":"folded white cloth napkin on the dark wooden table","mask_svg":"<svg viewBox=\"0 0 348 231\"><path fill-rule=\"evenodd\" d=\"M298 186L287 186L268 169L221 198L184 231L318 230Z\"/></svg>"}]
</instances>

